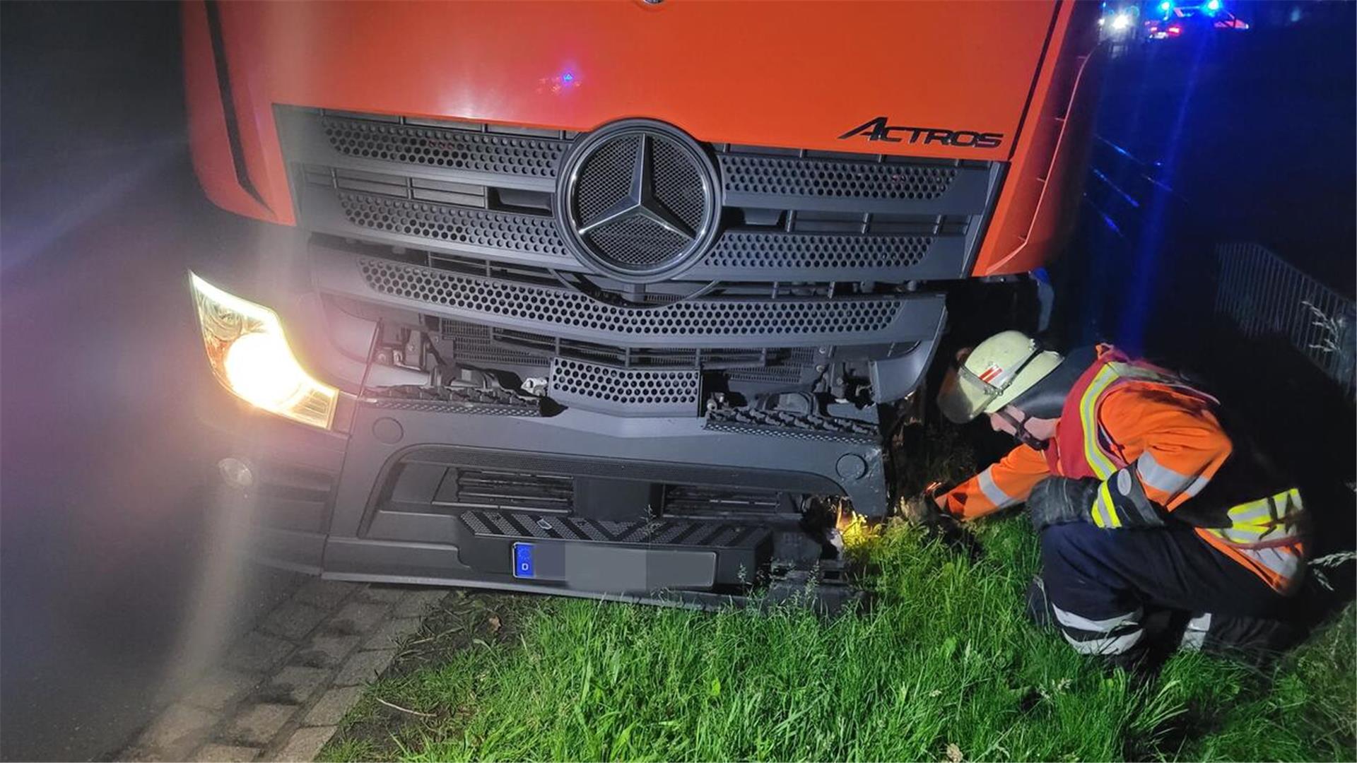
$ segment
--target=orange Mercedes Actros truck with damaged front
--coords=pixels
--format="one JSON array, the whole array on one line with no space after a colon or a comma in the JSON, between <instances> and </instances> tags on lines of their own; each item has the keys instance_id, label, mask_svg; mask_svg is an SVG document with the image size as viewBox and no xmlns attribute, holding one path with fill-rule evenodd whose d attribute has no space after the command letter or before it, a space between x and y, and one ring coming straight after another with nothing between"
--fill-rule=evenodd
<instances>
[{"instance_id":1,"label":"orange Mercedes Actros truck with damaged front","mask_svg":"<svg viewBox=\"0 0 1357 763\"><path fill-rule=\"evenodd\" d=\"M833 599L826 506L889 512L949 327L1073 219L1096 16L187 1L195 171L263 223L187 284L262 553Z\"/></svg>"}]
</instances>

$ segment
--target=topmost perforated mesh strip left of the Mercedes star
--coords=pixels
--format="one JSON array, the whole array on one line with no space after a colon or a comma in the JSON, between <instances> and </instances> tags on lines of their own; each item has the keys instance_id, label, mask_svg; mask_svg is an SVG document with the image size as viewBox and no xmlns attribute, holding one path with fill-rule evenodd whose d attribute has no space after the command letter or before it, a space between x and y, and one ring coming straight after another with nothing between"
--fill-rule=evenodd
<instances>
[{"instance_id":1,"label":"topmost perforated mesh strip left of the Mercedes star","mask_svg":"<svg viewBox=\"0 0 1357 763\"><path fill-rule=\"evenodd\" d=\"M324 117L322 125L330 145L349 156L499 175L555 178L566 149L558 140L364 119Z\"/></svg>"}]
</instances>

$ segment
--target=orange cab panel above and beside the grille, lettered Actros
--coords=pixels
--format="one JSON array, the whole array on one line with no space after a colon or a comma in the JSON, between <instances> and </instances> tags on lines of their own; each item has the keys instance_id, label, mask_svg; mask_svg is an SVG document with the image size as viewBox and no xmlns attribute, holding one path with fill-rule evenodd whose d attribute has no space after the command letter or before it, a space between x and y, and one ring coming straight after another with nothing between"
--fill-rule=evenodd
<instances>
[{"instance_id":1,"label":"orange cab panel above and beside the grille, lettered Actros","mask_svg":"<svg viewBox=\"0 0 1357 763\"><path fill-rule=\"evenodd\" d=\"M213 202L293 224L275 105L567 130L646 117L700 141L1008 163L976 276L1050 254L1077 190L1094 3L183 5L193 160ZM223 94L239 128L232 152ZM841 138L890 125L995 148ZM898 134L898 133L897 133ZM240 182L240 174L250 189Z\"/></svg>"}]
</instances>

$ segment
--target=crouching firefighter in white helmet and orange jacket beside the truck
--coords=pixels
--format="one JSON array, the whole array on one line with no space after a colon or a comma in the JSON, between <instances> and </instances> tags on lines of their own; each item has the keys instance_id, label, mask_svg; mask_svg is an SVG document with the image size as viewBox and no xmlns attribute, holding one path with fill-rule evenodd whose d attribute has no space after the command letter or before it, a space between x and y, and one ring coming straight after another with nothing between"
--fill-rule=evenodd
<instances>
[{"instance_id":1,"label":"crouching firefighter in white helmet and orange jacket beside the truck","mask_svg":"<svg viewBox=\"0 0 1357 763\"><path fill-rule=\"evenodd\" d=\"M1141 664L1151 619L1177 622L1174 646L1254 660L1301 635L1300 493L1182 376L1003 331L958 356L938 405L1018 439L936 504L973 520L1026 502L1042 559L1030 611L1075 650Z\"/></svg>"}]
</instances>

